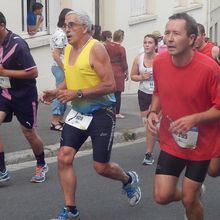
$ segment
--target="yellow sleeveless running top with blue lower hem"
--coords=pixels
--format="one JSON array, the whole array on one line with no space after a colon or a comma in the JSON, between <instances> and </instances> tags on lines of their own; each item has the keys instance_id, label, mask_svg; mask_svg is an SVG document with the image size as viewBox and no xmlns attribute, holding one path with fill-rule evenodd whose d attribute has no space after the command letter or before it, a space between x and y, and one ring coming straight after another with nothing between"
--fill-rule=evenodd
<instances>
[{"instance_id":1,"label":"yellow sleeveless running top with blue lower hem","mask_svg":"<svg viewBox=\"0 0 220 220\"><path fill-rule=\"evenodd\" d=\"M68 44L64 52L64 72L67 89L78 90L92 88L98 85L101 80L90 65L89 57L93 45L98 42L91 39L85 45L73 65L69 65L69 55L72 45ZM74 99L71 102L72 108L80 113L89 114L100 108L115 104L113 94L99 96L96 98L83 97Z\"/></svg>"}]
</instances>

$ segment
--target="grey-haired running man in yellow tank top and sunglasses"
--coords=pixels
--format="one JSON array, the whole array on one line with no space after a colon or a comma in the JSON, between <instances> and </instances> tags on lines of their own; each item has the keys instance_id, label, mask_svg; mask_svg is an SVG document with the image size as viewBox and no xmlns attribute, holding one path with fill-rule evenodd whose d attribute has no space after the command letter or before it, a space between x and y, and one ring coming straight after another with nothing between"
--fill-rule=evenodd
<instances>
[{"instance_id":1,"label":"grey-haired running man in yellow tank top and sunglasses","mask_svg":"<svg viewBox=\"0 0 220 220\"><path fill-rule=\"evenodd\" d=\"M58 89L45 91L43 101L58 98L71 101L58 152L58 174L65 206L55 219L79 219L76 208L76 174L73 160L90 136L93 143L93 166L104 177L119 180L131 206L141 199L136 172L125 172L110 162L115 128L115 81L110 59L102 43L93 39L92 23L83 11L70 11L65 19L69 45L65 49L65 80ZM97 189L98 191L98 189ZM91 217L92 219L92 217Z\"/></svg>"}]
</instances>

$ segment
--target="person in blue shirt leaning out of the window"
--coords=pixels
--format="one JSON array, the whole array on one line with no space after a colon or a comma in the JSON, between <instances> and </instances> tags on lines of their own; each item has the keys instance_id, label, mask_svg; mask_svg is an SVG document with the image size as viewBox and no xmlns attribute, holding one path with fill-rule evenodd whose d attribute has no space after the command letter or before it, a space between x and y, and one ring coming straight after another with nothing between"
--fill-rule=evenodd
<instances>
[{"instance_id":1,"label":"person in blue shirt leaning out of the window","mask_svg":"<svg viewBox=\"0 0 220 220\"><path fill-rule=\"evenodd\" d=\"M36 2L32 5L32 11L27 14L27 31L29 35L34 35L38 32L44 17L42 16L43 5Z\"/></svg>"}]
</instances>

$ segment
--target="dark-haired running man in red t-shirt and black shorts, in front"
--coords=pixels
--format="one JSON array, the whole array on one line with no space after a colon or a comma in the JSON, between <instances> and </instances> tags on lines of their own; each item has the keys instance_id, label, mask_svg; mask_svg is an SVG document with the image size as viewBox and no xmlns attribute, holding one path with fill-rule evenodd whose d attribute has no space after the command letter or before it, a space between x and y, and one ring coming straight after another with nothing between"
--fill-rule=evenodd
<instances>
[{"instance_id":1,"label":"dark-haired running man in red t-shirt and black shorts, in front","mask_svg":"<svg viewBox=\"0 0 220 220\"><path fill-rule=\"evenodd\" d=\"M220 68L193 50L197 34L197 23L188 14L169 18L168 52L154 60L155 89L148 113L149 129L157 132L162 112L154 198L159 204L182 201L188 220L204 218L201 186L210 160L220 153Z\"/></svg>"}]
</instances>

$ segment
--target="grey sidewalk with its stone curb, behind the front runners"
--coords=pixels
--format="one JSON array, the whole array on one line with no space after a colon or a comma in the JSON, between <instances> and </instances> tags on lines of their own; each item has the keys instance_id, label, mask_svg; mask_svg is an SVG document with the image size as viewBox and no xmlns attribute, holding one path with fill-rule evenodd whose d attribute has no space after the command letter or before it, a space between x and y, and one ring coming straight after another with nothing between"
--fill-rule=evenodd
<instances>
[{"instance_id":1,"label":"grey sidewalk with its stone curb, behind the front runners","mask_svg":"<svg viewBox=\"0 0 220 220\"><path fill-rule=\"evenodd\" d=\"M114 144L145 137L145 129L139 114L137 95L122 95L121 113L125 119L117 119ZM49 129L51 119L50 106L40 104L38 110L38 133L45 144L46 157L56 155L59 148L60 132ZM104 123L104 122L103 122ZM7 164L33 160L32 150L23 137L16 118L11 123L0 127L0 134L4 138ZM81 150L91 147L87 140Z\"/></svg>"}]
</instances>

